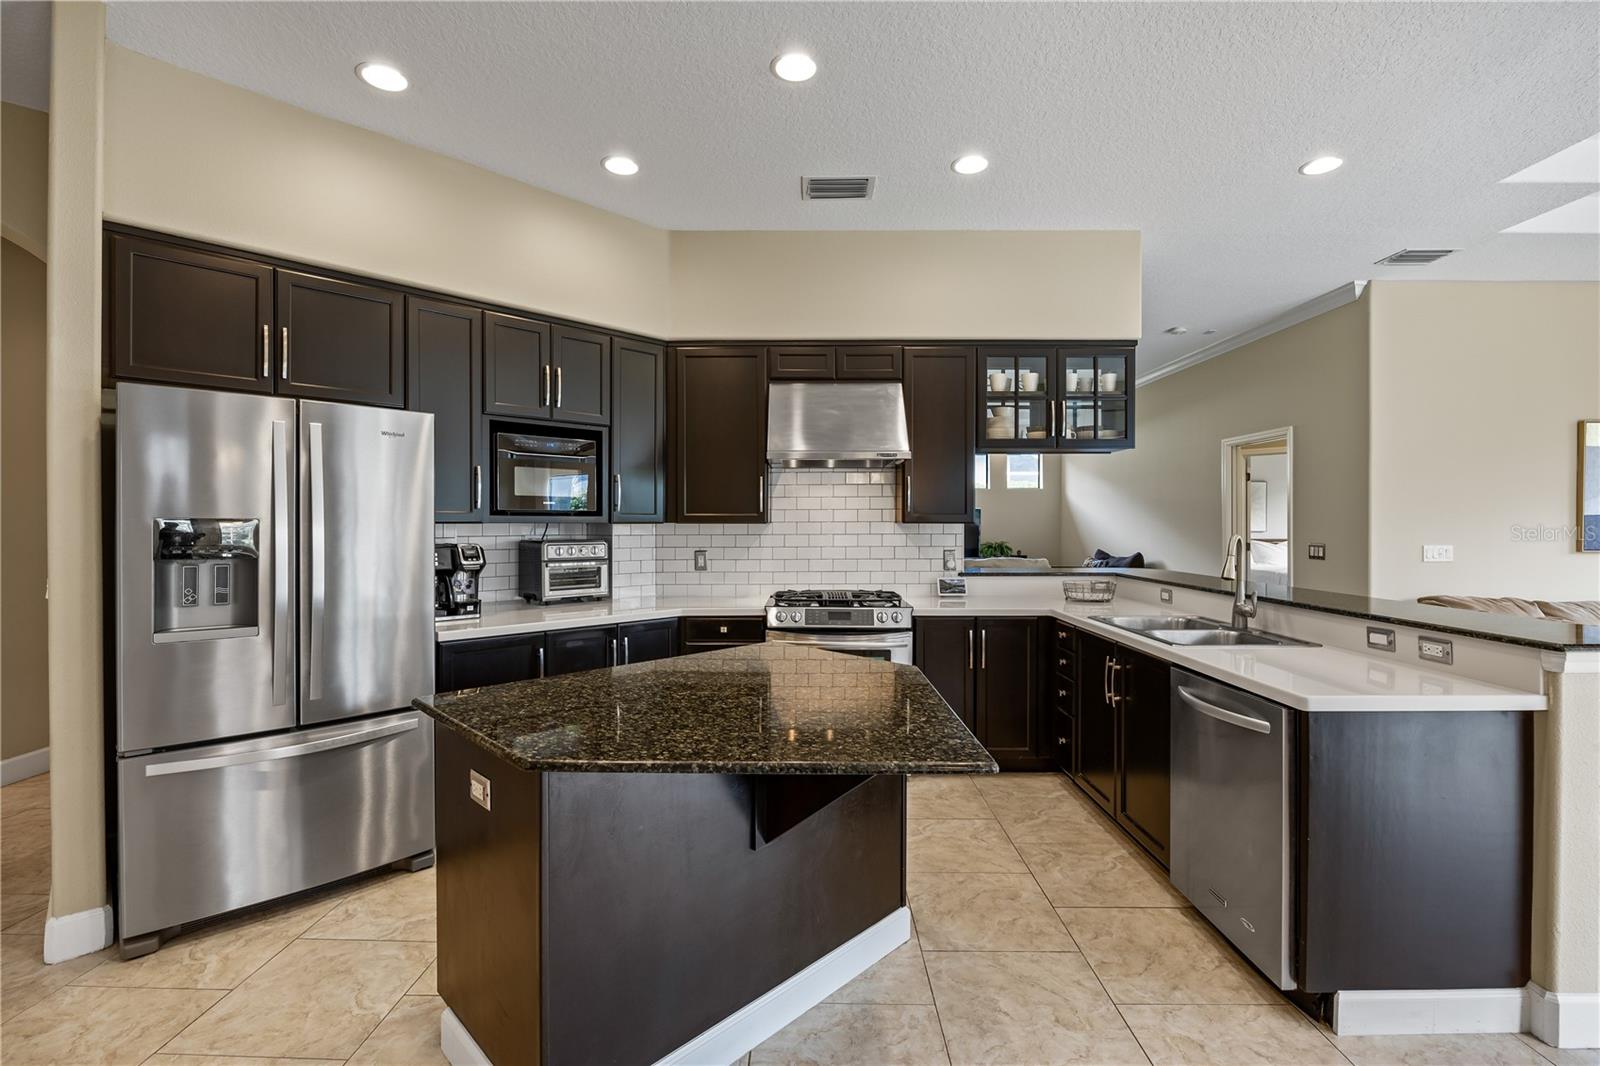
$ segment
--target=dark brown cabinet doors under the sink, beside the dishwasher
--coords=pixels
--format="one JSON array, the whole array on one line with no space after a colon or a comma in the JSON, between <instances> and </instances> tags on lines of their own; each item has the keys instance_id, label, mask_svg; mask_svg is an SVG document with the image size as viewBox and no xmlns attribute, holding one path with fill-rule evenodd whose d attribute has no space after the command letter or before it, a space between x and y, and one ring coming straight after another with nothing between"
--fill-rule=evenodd
<instances>
[{"instance_id":1,"label":"dark brown cabinet doors under the sink, beside the dishwasher","mask_svg":"<svg viewBox=\"0 0 1600 1066\"><path fill-rule=\"evenodd\" d=\"M1077 773L1163 866L1171 844L1171 667L1091 634L1077 647Z\"/></svg>"}]
</instances>

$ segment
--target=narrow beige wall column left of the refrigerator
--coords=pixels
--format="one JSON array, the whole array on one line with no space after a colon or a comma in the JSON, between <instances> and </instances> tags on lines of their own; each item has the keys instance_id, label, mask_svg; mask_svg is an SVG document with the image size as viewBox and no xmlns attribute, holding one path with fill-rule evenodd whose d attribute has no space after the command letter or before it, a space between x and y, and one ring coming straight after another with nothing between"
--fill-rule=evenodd
<instances>
[{"instance_id":1,"label":"narrow beige wall column left of the refrigerator","mask_svg":"<svg viewBox=\"0 0 1600 1066\"><path fill-rule=\"evenodd\" d=\"M106 6L53 11L45 287L50 919L45 962L110 943L101 693L101 130Z\"/></svg>"}]
</instances>

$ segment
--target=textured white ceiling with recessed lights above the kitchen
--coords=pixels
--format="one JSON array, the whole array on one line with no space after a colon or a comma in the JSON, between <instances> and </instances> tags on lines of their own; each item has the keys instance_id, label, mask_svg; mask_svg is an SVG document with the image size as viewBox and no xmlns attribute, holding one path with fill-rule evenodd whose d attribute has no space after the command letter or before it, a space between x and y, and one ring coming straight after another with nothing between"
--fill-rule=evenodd
<instances>
[{"instance_id":1,"label":"textured white ceiling with recessed lights above the kitchen","mask_svg":"<svg viewBox=\"0 0 1600 1066\"><path fill-rule=\"evenodd\" d=\"M1600 271L1499 232L1586 192L1501 179L1600 130L1592 3L112 3L109 35L670 229L1139 229L1144 368L1350 279ZM1373 266L1403 246L1466 251Z\"/></svg>"}]
</instances>

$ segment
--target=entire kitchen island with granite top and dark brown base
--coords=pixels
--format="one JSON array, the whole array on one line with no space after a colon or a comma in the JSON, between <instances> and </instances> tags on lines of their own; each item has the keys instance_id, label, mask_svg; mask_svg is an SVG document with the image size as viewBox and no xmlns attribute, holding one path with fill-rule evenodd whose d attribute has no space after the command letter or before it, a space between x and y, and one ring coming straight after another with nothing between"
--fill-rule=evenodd
<instances>
[{"instance_id":1,"label":"entire kitchen island with granite top and dark brown base","mask_svg":"<svg viewBox=\"0 0 1600 1066\"><path fill-rule=\"evenodd\" d=\"M416 706L456 1066L739 1058L909 938L906 775L997 768L915 667L782 643Z\"/></svg>"}]
</instances>

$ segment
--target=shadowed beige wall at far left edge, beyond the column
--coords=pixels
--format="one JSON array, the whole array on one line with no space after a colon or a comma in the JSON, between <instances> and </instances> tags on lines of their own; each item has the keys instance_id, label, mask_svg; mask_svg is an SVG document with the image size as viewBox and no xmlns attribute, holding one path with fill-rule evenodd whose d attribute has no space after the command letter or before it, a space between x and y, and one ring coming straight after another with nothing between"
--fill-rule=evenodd
<instances>
[{"instance_id":1,"label":"shadowed beige wall at far left edge, beyond the column","mask_svg":"<svg viewBox=\"0 0 1600 1066\"><path fill-rule=\"evenodd\" d=\"M0 759L50 744L43 437L45 264L0 240Z\"/></svg>"}]
</instances>

